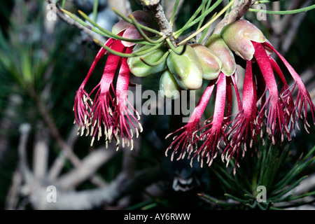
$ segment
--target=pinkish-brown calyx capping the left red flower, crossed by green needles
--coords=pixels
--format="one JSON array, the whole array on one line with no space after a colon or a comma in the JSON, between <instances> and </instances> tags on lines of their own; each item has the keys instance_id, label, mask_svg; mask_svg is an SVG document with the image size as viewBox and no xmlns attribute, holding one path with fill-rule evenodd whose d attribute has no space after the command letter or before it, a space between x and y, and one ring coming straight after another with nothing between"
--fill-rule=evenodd
<instances>
[{"instance_id":1,"label":"pinkish-brown calyx capping the left red flower, crossed by green needles","mask_svg":"<svg viewBox=\"0 0 315 224\"><path fill-rule=\"evenodd\" d=\"M151 27L152 29L158 30L158 24L157 24L155 18L153 17L153 15L151 15L151 13L137 10L137 11L134 11L132 13L132 15L134 16L134 18L137 20L137 22L139 24L144 25L146 27ZM126 20L120 20L118 23L116 23L116 25L113 25L113 28L111 29L111 31L113 34L119 34L121 31L124 31L124 33L123 33L124 38L131 38L131 39L141 39L142 38L142 36L141 36L141 34L139 34L137 28L134 27L134 25L127 22ZM147 36L155 36L155 34L153 34L150 31L144 30L144 33ZM122 41L122 43L126 47L131 47L131 46L135 45L135 43L131 43L131 42L127 42L127 41Z\"/></svg>"}]
</instances>

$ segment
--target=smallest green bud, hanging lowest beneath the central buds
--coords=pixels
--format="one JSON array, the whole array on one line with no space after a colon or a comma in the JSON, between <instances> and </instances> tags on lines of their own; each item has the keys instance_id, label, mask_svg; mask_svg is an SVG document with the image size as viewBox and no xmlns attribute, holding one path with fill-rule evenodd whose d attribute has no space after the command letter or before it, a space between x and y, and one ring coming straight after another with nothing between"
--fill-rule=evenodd
<instances>
[{"instance_id":1,"label":"smallest green bud, hanging lowest beneath the central buds","mask_svg":"<svg viewBox=\"0 0 315 224\"><path fill-rule=\"evenodd\" d=\"M177 99L179 98L179 90L181 88L172 73L168 69L165 70L160 78L160 94L163 97Z\"/></svg>"}]
</instances>

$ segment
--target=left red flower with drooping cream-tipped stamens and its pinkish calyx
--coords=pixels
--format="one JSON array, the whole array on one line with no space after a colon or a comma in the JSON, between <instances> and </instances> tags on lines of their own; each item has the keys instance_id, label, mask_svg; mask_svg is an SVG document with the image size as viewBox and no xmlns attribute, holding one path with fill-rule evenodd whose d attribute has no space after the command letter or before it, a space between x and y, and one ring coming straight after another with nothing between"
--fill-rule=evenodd
<instances>
[{"instance_id":1,"label":"left red flower with drooping cream-tipped stamens and its pinkish calyx","mask_svg":"<svg viewBox=\"0 0 315 224\"><path fill-rule=\"evenodd\" d=\"M137 22L149 26L154 18L150 13L135 11L132 16ZM113 34L118 34L123 38L140 39L141 35L136 27L121 20L113 27ZM151 34L147 32L147 35ZM115 52L130 54L135 43L109 38L104 44L107 48ZM106 65L99 84L87 93L85 85L90 79L92 72L99 60L108 53ZM116 88L113 86L113 80L118 73ZM141 123L139 123L139 114L135 113L134 108L127 101L127 90L130 84L130 69L127 64L127 57L120 57L114 53L101 48L97 53L87 76L76 92L74 99L74 116L78 124L78 134L90 134L92 137L91 146L94 139L99 140L102 135L105 136L106 144L114 138L117 147L121 144L133 147L133 133L139 135L142 132ZM94 100L92 95L94 94ZM133 130L134 131L133 131Z\"/></svg>"}]
</instances>

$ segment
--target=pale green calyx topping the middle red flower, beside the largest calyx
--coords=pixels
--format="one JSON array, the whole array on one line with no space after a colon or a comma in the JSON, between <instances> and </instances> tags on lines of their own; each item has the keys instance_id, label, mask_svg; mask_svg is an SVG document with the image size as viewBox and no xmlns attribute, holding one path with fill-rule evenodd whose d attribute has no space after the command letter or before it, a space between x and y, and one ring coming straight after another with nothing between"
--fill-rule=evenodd
<instances>
[{"instance_id":1,"label":"pale green calyx topping the middle red flower, beside the largest calyx","mask_svg":"<svg viewBox=\"0 0 315 224\"><path fill-rule=\"evenodd\" d=\"M225 76L232 76L232 74L235 73L237 65L232 51L223 41L220 34L210 36L204 45L209 48L216 57L221 59L221 71L225 74Z\"/></svg>"}]
</instances>

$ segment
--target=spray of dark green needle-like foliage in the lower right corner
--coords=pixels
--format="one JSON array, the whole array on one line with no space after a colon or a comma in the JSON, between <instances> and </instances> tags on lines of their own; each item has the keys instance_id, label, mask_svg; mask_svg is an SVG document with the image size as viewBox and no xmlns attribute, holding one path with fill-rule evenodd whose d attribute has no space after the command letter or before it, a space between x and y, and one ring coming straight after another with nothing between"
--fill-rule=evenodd
<instances>
[{"instance_id":1,"label":"spray of dark green needle-like foliage in the lower right corner","mask_svg":"<svg viewBox=\"0 0 315 224\"><path fill-rule=\"evenodd\" d=\"M290 155L292 147L279 147L266 144L259 146L258 155L244 158L236 169L230 172L223 163L216 163L212 170L220 180L224 197L217 199L209 195L201 195L210 202L215 202L223 209L281 209L297 207L303 204L295 201L315 195L314 191L295 195L294 188L307 178L303 173L315 165L315 147L306 155L300 155L296 161ZM230 166L234 168L231 160ZM265 202L258 202L262 193L259 187L265 188ZM211 195L211 194L210 194ZM228 200L232 200L229 202ZM279 202L283 202L282 204ZM309 202L304 202L305 204Z\"/></svg>"}]
</instances>

